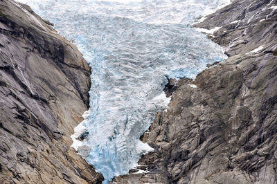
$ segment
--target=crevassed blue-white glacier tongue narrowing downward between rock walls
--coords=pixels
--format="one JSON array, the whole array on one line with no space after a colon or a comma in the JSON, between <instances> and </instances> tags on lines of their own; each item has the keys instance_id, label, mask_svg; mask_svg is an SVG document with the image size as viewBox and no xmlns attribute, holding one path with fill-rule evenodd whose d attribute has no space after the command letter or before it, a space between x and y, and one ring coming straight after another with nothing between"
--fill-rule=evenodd
<instances>
[{"instance_id":1,"label":"crevassed blue-white glacier tongue narrowing downward between rock walls","mask_svg":"<svg viewBox=\"0 0 277 184\"><path fill-rule=\"evenodd\" d=\"M90 109L72 138L104 183L152 151L139 138L170 101L168 78L195 77L225 58L190 26L229 0L20 1L52 21L91 66Z\"/></svg>"}]
</instances>

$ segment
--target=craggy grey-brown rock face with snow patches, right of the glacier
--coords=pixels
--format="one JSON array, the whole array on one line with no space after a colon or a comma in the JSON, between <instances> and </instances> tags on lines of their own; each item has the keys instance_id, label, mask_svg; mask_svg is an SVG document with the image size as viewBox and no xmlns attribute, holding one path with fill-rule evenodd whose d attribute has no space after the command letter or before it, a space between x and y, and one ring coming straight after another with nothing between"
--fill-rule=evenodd
<instances>
[{"instance_id":1,"label":"craggy grey-brown rock face with snow patches, right of the glacier","mask_svg":"<svg viewBox=\"0 0 277 184\"><path fill-rule=\"evenodd\" d=\"M229 59L195 81L170 81L168 110L159 112L141 137L155 149L139 162L145 173L112 183L277 183L277 9L272 6L277 1L233 1L195 25L222 27L210 37Z\"/></svg>"}]
</instances>

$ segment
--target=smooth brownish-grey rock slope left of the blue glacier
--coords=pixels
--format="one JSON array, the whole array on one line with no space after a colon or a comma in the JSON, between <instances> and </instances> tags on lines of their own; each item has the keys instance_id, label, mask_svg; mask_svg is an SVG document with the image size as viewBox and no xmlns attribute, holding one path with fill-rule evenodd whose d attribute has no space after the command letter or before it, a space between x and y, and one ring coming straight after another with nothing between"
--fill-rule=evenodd
<instances>
[{"instance_id":1,"label":"smooth brownish-grey rock slope left of the blue glacier","mask_svg":"<svg viewBox=\"0 0 277 184\"><path fill-rule=\"evenodd\" d=\"M0 183L100 183L72 144L90 68L51 23L0 1Z\"/></svg>"}]
</instances>

